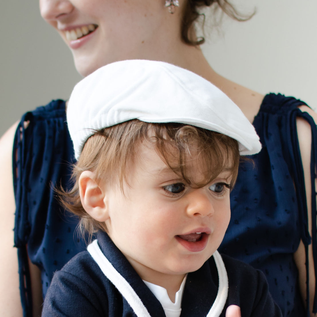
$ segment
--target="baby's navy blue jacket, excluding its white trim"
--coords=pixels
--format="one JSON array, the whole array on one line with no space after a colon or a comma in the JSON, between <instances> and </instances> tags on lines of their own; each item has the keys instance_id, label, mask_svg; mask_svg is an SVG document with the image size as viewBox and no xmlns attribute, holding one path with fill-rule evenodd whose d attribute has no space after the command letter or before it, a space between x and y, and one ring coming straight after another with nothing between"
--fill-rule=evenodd
<instances>
[{"instance_id":1,"label":"baby's navy blue jacket, excluding its white trim","mask_svg":"<svg viewBox=\"0 0 317 317\"><path fill-rule=\"evenodd\" d=\"M125 256L107 234L98 233L98 245L113 268L132 286L150 316L165 316L163 307L141 280ZM281 316L268 292L262 272L248 264L222 256L227 272L228 296L224 307L216 316L225 316L226 308L241 307L243 317ZM207 316L218 294L219 273L211 257L186 279L181 316ZM88 251L83 251L57 271L47 292L42 316L137 316L113 283L102 273Z\"/></svg>"}]
</instances>

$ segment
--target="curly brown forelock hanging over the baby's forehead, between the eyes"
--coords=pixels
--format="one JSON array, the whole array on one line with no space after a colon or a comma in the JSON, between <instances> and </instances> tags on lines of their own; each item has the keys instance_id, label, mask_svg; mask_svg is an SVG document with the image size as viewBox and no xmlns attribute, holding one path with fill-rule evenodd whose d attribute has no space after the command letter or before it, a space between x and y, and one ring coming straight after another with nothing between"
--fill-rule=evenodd
<instances>
[{"instance_id":1,"label":"curly brown forelock hanging over the baby's forehead, between the eyes","mask_svg":"<svg viewBox=\"0 0 317 317\"><path fill-rule=\"evenodd\" d=\"M161 124L154 130L157 153L191 187L203 187L223 171L232 176L231 185L235 183L240 160L236 140L215 131L181 124ZM188 169L192 160L205 175L199 183L192 181Z\"/></svg>"}]
</instances>

